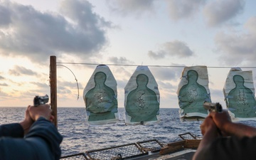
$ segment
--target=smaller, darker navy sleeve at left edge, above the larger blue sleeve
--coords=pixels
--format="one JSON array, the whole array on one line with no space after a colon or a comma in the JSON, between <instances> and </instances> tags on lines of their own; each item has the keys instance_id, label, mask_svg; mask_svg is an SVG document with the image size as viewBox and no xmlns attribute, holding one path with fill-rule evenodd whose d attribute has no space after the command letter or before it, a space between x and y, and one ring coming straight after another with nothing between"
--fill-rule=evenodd
<instances>
[{"instance_id":1,"label":"smaller, darker navy sleeve at left edge, above the larger blue sleeve","mask_svg":"<svg viewBox=\"0 0 256 160\"><path fill-rule=\"evenodd\" d=\"M0 126L0 137L20 137L24 136L21 124L4 124Z\"/></svg>"}]
</instances>

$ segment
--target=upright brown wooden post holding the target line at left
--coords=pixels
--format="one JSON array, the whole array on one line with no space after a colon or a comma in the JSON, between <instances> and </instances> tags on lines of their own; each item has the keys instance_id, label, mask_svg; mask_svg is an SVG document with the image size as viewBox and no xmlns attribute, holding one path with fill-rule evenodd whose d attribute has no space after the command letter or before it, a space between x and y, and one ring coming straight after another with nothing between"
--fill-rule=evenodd
<instances>
[{"instance_id":1,"label":"upright brown wooden post holding the target line at left","mask_svg":"<svg viewBox=\"0 0 256 160\"><path fill-rule=\"evenodd\" d=\"M56 56L50 56L50 105L53 110L54 124L58 128L57 117L57 70L56 70Z\"/></svg>"}]
</instances>

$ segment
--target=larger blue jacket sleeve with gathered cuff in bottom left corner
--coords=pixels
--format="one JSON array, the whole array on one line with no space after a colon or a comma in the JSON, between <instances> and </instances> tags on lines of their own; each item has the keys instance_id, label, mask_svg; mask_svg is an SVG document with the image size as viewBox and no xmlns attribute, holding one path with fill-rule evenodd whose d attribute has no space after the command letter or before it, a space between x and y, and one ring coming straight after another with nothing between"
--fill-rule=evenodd
<instances>
[{"instance_id":1,"label":"larger blue jacket sleeve with gathered cuff in bottom left corner","mask_svg":"<svg viewBox=\"0 0 256 160\"><path fill-rule=\"evenodd\" d=\"M0 159L60 159L62 139L55 126L41 117L34 122L26 137L0 138Z\"/></svg>"}]
</instances>

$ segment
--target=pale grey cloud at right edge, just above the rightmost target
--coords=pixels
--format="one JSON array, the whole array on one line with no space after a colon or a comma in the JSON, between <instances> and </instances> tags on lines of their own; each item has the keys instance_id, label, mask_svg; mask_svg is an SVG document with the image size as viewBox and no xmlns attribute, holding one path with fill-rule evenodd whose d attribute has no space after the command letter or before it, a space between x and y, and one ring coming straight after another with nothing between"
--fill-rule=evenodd
<instances>
[{"instance_id":1,"label":"pale grey cloud at right edge, just above the rightmost target","mask_svg":"<svg viewBox=\"0 0 256 160\"><path fill-rule=\"evenodd\" d=\"M220 60L228 65L247 63L255 64L256 60L256 17L250 18L244 27L247 33L224 33L220 32L215 36L215 44L222 53Z\"/></svg>"}]
</instances>

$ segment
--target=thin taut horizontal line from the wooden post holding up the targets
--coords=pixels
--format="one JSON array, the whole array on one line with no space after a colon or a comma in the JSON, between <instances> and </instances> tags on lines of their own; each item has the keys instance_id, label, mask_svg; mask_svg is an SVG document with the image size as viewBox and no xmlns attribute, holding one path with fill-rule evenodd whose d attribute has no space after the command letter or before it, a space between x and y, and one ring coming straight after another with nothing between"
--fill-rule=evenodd
<instances>
[{"instance_id":1,"label":"thin taut horizontal line from the wooden post holding up the targets","mask_svg":"<svg viewBox=\"0 0 256 160\"><path fill-rule=\"evenodd\" d=\"M70 65L102 65L102 63L57 63L57 64L70 64ZM129 66L129 67L137 67L139 65L131 65L131 64L105 64L105 65L113 65L113 66ZM156 67L156 68L184 68L188 67L186 65L146 65L149 67ZM193 65L192 65L193 66ZM207 68L235 68L231 66L208 66ZM244 66L239 68L256 68L256 66Z\"/></svg>"}]
</instances>

